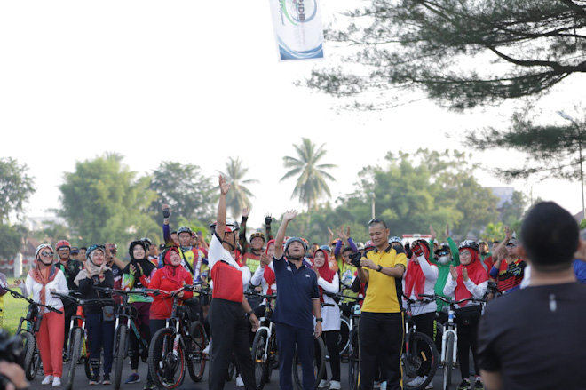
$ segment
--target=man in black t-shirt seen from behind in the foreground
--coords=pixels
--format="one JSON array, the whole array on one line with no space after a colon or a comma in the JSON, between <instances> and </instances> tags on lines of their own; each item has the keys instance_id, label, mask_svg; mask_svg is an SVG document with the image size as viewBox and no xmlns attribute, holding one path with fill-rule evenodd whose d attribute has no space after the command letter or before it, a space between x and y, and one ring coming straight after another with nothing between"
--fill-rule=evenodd
<instances>
[{"instance_id":1,"label":"man in black t-shirt seen from behind in the foreground","mask_svg":"<svg viewBox=\"0 0 586 390\"><path fill-rule=\"evenodd\" d=\"M586 389L586 286L576 283L582 250L572 215L537 203L521 227L520 255L532 266L525 289L486 307L479 327L479 366L487 390Z\"/></svg>"}]
</instances>

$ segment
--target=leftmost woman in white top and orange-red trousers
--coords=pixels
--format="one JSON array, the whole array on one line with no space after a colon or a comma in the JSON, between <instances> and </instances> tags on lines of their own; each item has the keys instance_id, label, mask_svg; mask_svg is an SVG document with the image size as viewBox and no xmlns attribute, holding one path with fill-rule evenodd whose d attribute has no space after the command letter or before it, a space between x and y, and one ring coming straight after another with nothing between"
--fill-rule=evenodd
<instances>
[{"instance_id":1,"label":"leftmost woman in white top and orange-red trousers","mask_svg":"<svg viewBox=\"0 0 586 390\"><path fill-rule=\"evenodd\" d=\"M48 243L36 247L36 266L28 271L24 283L17 279L14 283L20 286L22 295L33 295L35 302L52 306L61 312L63 302L51 292L69 295L69 288L63 272L53 264L53 249ZM41 385L61 385L63 374L63 339L65 338L65 316L62 313L49 311L39 307L39 314L43 315L41 328L36 332L36 343L43 362L44 379Z\"/></svg>"}]
</instances>

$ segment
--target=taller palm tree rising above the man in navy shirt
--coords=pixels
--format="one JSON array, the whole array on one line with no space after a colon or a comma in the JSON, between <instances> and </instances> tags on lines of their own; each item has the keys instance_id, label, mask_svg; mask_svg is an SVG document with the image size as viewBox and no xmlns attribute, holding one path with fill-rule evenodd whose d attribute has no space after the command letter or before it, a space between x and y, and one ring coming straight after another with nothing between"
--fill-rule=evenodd
<instances>
[{"instance_id":1,"label":"taller palm tree rising above the man in navy shirt","mask_svg":"<svg viewBox=\"0 0 586 390\"><path fill-rule=\"evenodd\" d=\"M294 198L299 196L299 203L307 205L307 211L312 210L317 206L318 200L324 195L331 196L329 192L328 183L326 180L333 180L327 171L332 168L337 168L331 163L318 164L326 154L324 146L316 147L311 139L303 138L301 145L293 145L297 151L297 157L290 157L289 155L283 157L283 165L285 168L291 168L280 181L297 176L297 185L293 190Z\"/></svg>"}]
</instances>

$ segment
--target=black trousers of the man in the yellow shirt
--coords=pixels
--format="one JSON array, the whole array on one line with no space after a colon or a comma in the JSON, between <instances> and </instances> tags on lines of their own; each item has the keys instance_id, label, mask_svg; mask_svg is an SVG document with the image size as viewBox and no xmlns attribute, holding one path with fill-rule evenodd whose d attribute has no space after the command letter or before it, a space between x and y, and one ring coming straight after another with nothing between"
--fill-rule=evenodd
<instances>
[{"instance_id":1,"label":"black trousers of the man in the yellow shirt","mask_svg":"<svg viewBox=\"0 0 586 390\"><path fill-rule=\"evenodd\" d=\"M360 354L360 390L374 386L376 362L387 390L401 390L400 352L404 337L402 313L368 313L360 315L358 327Z\"/></svg>"}]
</instances>

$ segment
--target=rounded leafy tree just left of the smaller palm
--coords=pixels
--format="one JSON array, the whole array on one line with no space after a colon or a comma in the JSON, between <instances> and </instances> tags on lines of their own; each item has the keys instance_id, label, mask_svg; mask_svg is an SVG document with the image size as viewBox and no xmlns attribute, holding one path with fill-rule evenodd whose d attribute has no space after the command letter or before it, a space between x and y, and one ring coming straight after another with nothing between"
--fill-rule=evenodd
<instances>
[{"instance_id":1,"label":"rounded leafy tree just left of the smaller palm","mask_svg":"<svg viewBox=\"0 0 586 390\"><path fill-rule=\"evenodd\" d=\"M170 226L173 227L178 227L179 217L204 221L214 218L217 191L212 179L205 176L199 166L165 161L152 176L149 189L156 193L156 197L149 211L156 216L157 225L162 224L163 203L169 204L173 211L170 216ZM161 232L161 227L158 231Z\"/></svg>"}]
</instances>

